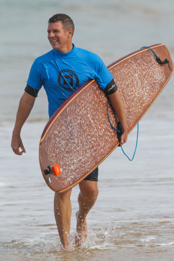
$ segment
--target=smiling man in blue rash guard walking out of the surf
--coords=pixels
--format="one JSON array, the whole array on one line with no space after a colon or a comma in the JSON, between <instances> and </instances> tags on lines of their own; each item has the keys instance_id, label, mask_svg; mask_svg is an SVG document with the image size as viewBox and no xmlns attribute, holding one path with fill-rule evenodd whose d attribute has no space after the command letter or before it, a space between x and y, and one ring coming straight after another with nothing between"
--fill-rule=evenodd
<instances>
[{"instance_id":1,"label":"smiling man in blue rash guard walking out of the surf","mask_svg":"<svg viewBox=\"0 0 174 261\"><path fill-rule=\"evenodd\" d=\"M15 154L25 153L20 137L21 128L32 110L39 89L45 88L49 102L49 117L69 97L72 92L89 79L96 79L99 87L110 98L111 104L122 123L125 132L121 136L120 144L127 140L127 124L125 111L113 77L102 60L95 54L76 48L72 43L74 24L65 14L53 15L48 21L48 40L52 50L38 57L30 70L27 86L19 102L13 130L11 147ZM19 151L21 148L21 151ZM81 245L87 237L86 216L97 199L98 168L80 182L78 195L79 211L77 218L76 245ZM55 192L54 213L58 233L63 248L69 246L69 232L71 220L71 195L69 191Z\"/></svg>"}]
</instances>

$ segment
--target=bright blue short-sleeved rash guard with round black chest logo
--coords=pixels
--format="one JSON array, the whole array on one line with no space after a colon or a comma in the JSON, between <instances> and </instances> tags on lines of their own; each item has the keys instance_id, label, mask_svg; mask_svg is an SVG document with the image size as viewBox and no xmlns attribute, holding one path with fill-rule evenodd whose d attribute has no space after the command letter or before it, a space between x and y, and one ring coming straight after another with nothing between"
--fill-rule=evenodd
<instances>
[{"instance_id":1,"label":"bright blue short-sleeved rash guard with round black chest logo","mask_svg":"<svg viewBox=\"0 0 174 261\"><path fill-rule=\"evenodd\" d=\"M72 92L89 79L95 79L104 90L113 76L98 55L73 44L70 52L53 49L38 57L32 64L27 84L36 90L43 85L51 117Z\"/></svg>"}]
</instances>

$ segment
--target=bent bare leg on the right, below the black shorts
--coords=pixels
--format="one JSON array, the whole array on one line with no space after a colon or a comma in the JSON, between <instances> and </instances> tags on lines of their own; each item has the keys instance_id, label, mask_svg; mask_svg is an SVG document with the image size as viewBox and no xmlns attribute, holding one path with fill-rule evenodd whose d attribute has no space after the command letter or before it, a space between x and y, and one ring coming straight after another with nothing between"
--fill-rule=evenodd
<instances>
[{"instance_id":1,"label":"bent bare leg on the right, below the black shorts","mask_svg":"<svg viewBox=\"0 0 174 261\"><path fill-rule=\"evenodd\" d=\"M94 206L98 196L98 187L96 181L83 180L79 184L80 193L78 195L79 211L76 213L77 218L77 236L75 243L81 246L83 240L87 237L86 215Z\"/></svg>"}]
</instances>

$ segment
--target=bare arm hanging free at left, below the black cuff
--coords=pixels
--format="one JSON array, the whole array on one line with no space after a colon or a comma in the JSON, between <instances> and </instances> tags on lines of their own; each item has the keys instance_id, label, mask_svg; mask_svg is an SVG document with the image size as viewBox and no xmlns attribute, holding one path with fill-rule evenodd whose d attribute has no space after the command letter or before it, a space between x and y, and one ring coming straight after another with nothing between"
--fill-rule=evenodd
<instances>
[{"instance_id":1,"label":"bare arm hanging free at left, below the black cuff","mask_svg":"<svg viewBox=\"0 0 174 261\"><path fill-rule=\"evenodd\" d=\"M19 102L15 127L13 129L13 135L11 141L11 147L16 155L22 155L23 152L24 153L26 152L22 144L20 133L21 133L22 126L24 125L26 119L28 118L34 103L35 103L35 97L33 97L32 95L28 94L25 91ZM19 148L21 148L21 151L19 151Z\"/></svg>"}]
</instances>

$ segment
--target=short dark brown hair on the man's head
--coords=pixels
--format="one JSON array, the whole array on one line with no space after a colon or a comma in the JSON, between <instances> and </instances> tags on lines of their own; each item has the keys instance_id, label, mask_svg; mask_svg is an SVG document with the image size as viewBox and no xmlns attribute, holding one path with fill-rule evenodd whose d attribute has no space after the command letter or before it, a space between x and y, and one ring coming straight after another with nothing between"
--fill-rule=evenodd
<instances>
[{"instance_id":1,"label":"short dark brown hair on the man's head","mask_svg":"<svg viewBox=\"0 0 174 261\"><path fill-rule=\"evenodd\" d=\"M64 32L67 32L69 29L73 29L73 33L74 33L74 23L68 15L65 15L65 14L53 15L51 18L49 18L48 24L53 24L53 23L56 23L59 21L62 23ZM73 33L72 33L72 35L73 35Z\"/></svg>"}]
</instances>

